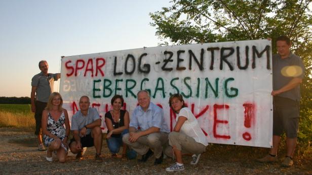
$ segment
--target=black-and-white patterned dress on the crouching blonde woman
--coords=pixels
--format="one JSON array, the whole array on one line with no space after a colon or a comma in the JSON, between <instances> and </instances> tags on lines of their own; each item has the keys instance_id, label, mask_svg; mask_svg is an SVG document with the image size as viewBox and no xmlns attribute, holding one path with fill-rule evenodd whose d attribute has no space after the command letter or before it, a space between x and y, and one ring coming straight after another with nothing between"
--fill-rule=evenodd
<instances>
[{"instance_id":1,"label":"black-and-white patterned dress on the crouching blonde woman","mask_svg":"<svg viewBox=\"0 0 312 175\"><path fill-rule=\"evenodd\" d=\"M65 138L65 134L66 134L66 130L64 128L64 123L65 123L65 114L64 111L62 111L60 118L55 121L52 118L52 115L50 112L48 112L48 123L47 123L47 130L52 133L53 135L57 136L58 138L60 138L62 141ZM54 141L53 138L44 135L44 140L45 140L45 144L47 146L49 146L51 144L51 142ZM65 151L67 152L68 148L67 146L65 146L63 143L61 144L61 147L65 149Z\"/></svg>"}]
</instances>

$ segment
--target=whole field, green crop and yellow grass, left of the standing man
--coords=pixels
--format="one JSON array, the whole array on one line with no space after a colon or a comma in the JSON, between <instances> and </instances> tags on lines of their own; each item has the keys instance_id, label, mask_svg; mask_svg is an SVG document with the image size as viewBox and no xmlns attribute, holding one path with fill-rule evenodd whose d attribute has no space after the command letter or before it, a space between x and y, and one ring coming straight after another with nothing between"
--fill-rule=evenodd
<instances>
[{"instance_id":1,"label":"whole field, green crop and yellow grass, left of the standing man","mask_svg":"<svg viewBox=\"0 0 312 175\"><path fill-rule=\"evenodd\" d=\"M34 129L35 120L29 104L0 104L0 127Z\"/></svg>"}]
</instances>

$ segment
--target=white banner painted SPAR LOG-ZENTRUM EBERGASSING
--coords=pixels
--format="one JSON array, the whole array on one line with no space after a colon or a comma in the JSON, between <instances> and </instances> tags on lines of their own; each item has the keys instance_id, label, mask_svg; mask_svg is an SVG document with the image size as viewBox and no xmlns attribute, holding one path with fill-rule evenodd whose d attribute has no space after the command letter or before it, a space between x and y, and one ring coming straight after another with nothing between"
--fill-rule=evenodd
<instances>
[{"instance_id":1,"label":"white banner painted SPAR LOG-ZENTRUM EBERGASSING","mask_svg":"<svg viewBox=\"0 0 312 175\"><path fill-rule=\"evenodd\" d=\"M172 130L171 94L182 94L210 143L272 145L272 64L268 40L138 48L65 56L60 93L71 117L79 98L90 97L106 132L110 100L123 95L130 113L136 94L150 92Z\"/></svg>"}]
</instances>

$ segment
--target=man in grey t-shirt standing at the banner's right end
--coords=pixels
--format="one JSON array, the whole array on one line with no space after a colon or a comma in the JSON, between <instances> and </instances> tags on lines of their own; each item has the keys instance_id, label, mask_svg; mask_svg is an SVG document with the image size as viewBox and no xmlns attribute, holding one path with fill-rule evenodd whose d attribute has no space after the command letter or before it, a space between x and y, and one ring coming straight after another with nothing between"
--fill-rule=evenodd
<instances>
[{"instance_id":1,"label":"man in grey t-shirt standing at the banner's right end","mask_svg":"<svg viewBox=\"0 0 312 175\"><path fill-rule=\"evenodd\" d=\"M304 66L299 56L290 52L291 41L287 36L277 38L279 54L273 55L273 147L260 162L276 162L281 135L286 133L287 154L283 166L293 164L292 156L297 144L299 122L300 83Z\"/></svg>"}]
</instances>

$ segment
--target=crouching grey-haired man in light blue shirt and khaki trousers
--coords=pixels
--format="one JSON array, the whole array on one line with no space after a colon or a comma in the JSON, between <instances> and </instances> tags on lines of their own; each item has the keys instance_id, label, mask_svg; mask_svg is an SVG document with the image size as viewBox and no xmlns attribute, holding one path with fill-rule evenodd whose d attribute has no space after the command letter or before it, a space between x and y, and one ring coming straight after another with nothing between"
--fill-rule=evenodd
<instances>
[{"instance_id":1,"label":"crouching grey-haired man in light blue shirt and khaki trousers","mask_svg":"<svg viewBox=\"0 0 312 175\"><path fill-rule=\"evenodd\" d=\"M148 91L141 90L137 94L139 106L132 113L129 134L124 135L123 142L134 149L146 162L154 154L154 164L163 161L163 145L168 142L170 132L163 109L150 102Z\"/></svg>"}]
</instances>

